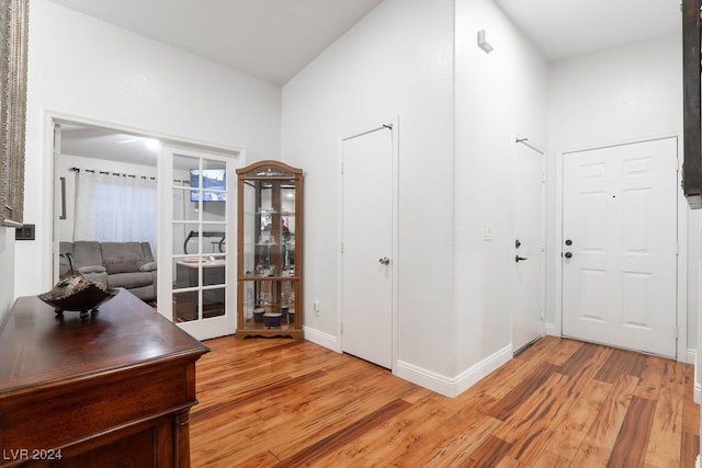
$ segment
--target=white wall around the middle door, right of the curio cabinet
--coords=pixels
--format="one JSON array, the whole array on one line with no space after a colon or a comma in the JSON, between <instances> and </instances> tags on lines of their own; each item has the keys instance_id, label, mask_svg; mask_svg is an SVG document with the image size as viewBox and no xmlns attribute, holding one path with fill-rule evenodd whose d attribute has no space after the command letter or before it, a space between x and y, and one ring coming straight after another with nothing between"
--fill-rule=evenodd
<instances>
[{"instance_id":1,"label":"white wall around the middle door, right of the curio cabinet","mask_svg":"<svg viewBox=\"0 0 702 468\"><path fill-rule=\"evenodd\" d=\"M339 137L399 117L399 359L453 375L453 1L386 0L283 87L305 168L305 326L337 339ZM372 171L373 168L369 168Z\"/></svg>"}]
</instances>

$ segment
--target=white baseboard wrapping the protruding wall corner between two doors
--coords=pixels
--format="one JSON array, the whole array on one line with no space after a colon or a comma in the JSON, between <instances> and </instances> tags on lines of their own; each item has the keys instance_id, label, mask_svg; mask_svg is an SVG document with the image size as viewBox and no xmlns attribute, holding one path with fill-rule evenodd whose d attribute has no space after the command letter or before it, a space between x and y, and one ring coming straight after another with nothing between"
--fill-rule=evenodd
<instances>
[{"instance_id":1,"label":"white baseboard wrapping the protruding wall corner between two doors","mask_svg":"<svg viewBox=\"0 0 702 468\"><path fill-rule=\"evenodd\" d=\"M393 374L404 378L405 380L409 380L412 384L417 384L421 387L435 391L437 393L453 398L471 388L478 380L486 377L511 358L512 345L509 344L471 368L464 370L456 377L446 377L404 361L397 362L397 366Z\"/></svg>"}]
</instances>

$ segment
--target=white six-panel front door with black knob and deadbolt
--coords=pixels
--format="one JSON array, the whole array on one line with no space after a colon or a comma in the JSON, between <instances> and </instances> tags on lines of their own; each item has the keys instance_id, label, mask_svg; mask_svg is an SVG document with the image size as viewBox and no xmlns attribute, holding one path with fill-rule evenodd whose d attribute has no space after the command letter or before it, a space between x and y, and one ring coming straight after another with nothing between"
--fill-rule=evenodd
<instances>
[{"instance_id":1,"label":"white six-panel front door with black knob and deadbolt","mask_svg":"<svg viewBox=\"0 0 702 468\"><path fill-rule=\"evenodd\" d=\"M564 155L563 334L676 356L677 141Z\"/></svg>"}]
</instances>

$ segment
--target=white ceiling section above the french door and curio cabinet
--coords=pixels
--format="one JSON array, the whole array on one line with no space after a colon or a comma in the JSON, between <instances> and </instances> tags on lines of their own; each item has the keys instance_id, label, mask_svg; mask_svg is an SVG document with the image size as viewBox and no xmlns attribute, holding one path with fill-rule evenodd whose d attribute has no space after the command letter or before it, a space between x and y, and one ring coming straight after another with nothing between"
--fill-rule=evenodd
<instances>
[{"instance_id":1,"label":"white ceiling section above the french door and curio cabinet","mask_svg":"<svg viewBox=\"0 0 702 468\"><path fill-rule=\"evenodd\" d=\"M283 84L382 0L52 0Z\"/></svg>"}]
</instances>

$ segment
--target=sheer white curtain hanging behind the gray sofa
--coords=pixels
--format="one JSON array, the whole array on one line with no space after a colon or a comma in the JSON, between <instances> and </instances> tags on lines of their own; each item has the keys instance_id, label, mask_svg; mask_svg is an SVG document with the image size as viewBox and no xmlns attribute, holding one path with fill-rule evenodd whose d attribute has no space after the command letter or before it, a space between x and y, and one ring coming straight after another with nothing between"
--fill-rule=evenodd
<instances>
[{"instance_id":1,"label":"sheer white curtain hanging behind the gray sofa","mask_svg":"<svg viewBox=\"0 0 702 468\"><path fill-rule=\"evenodd\" d=\"M89 171L76 181L75 240L149 242L156 256L156 181Z\"/></svg>"}]
</instances>

